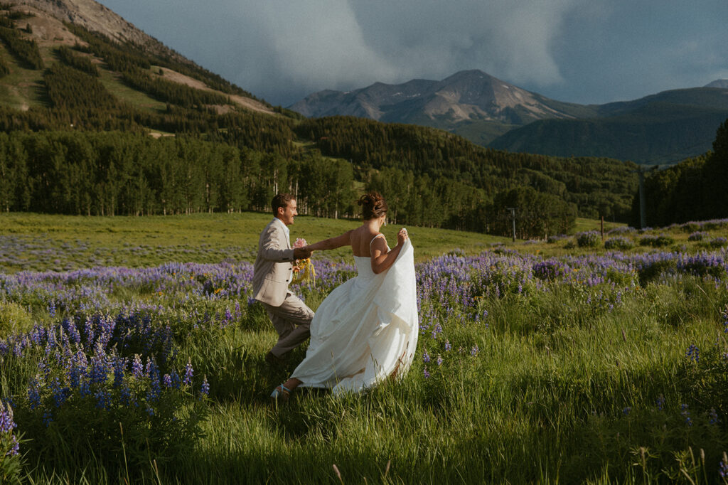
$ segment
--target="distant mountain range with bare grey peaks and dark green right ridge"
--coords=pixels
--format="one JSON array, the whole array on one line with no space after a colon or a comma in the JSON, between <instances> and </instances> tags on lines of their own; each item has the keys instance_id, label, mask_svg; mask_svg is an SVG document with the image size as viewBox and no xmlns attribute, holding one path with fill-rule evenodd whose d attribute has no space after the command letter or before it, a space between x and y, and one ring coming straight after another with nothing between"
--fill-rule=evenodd
<instances>
[{"instance_id":1,"label":"distant mountain range with bare grey peaks and dark green right ridge","mask_svg":"<svg viewBox=\"0 0 728 485\"><path fill-rule=\"evenodd\" d=\"M495 149L664 164L705 153L728 118L728 80L603 105L564 103L490 76L460 71L442 81L377 82L314 92L290 109L424 125Z\"/></svg>"}]
</instances>

